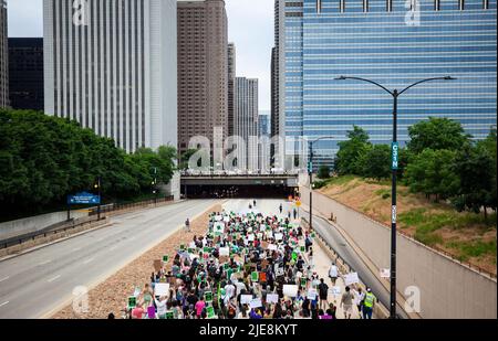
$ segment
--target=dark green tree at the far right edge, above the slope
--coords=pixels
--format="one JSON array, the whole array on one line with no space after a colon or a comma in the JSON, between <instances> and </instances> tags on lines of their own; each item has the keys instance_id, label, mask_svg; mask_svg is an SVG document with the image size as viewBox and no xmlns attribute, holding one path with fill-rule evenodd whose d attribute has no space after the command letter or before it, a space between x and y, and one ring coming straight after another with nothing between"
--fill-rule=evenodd
<instances>
[{"instance_id":1,"label":"dark green tree at the far right edge, above the slope","mask_svg":"<svg viewBox=\"0 0 498 341\"><path fill-rule=\"evenodd\" d=\"M484 209L487 219L487 209L497 209L496 159L492 153L483 145L466 146L457 153L454 170L460 178L455 207L460 212L469 210L475 213Z\"/></svg>"}]
</instances>

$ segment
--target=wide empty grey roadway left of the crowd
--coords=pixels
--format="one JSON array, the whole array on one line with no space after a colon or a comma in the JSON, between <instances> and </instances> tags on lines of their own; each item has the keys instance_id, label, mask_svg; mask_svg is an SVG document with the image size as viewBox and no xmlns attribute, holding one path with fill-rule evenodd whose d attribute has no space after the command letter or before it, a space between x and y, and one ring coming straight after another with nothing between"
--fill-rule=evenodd
<instances>
[{"instance_id":1,"label":"wide empty grey roadway left of the crowd","mask_svg":"<svg viewBox=\"0 0 498 341\"><path fill-rule=\"evenodd\" d=\"M70 303L75 287L104 280L215 203L186 201L116 215L108 227L0 262L0 318L45 317Z\"/></svg>"}]
</instances>

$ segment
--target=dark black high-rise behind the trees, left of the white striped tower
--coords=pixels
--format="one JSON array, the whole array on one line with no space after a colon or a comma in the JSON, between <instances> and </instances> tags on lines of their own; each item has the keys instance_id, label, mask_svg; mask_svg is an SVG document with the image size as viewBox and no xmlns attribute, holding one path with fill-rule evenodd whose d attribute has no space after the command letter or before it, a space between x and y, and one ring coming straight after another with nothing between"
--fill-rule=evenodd
<instances>
[{"instance_id":1,"label":"dark black high-rise behind the trees, left of the white striped tower","mask_svg":"<svg viewBox=\"0 0 498 341\"><path fill-rule=\"evenodd\" d=\"M42 38L9 38L9 97L14 109L44 109Z\"/></svg>"}]
</instances>

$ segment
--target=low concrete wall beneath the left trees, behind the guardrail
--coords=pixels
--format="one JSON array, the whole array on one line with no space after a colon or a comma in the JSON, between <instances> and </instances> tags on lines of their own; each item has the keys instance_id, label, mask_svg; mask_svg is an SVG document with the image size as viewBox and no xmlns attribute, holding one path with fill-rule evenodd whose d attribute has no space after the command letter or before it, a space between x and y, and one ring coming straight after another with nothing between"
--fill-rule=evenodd
<instances>
[{"instance_id":1,"label":"low concrete wall beneath the left trees, behind the guardrail","mask_svg":"<svg viewBox=\"0 0 498 341\"><path fill-rule=\"evenodd\" d=\"M71 217L89 216L87 212L72 211ZM68 212L54 212L0 223L0 241L38 232L66 221Z\"/></svg>"}]
</instances>

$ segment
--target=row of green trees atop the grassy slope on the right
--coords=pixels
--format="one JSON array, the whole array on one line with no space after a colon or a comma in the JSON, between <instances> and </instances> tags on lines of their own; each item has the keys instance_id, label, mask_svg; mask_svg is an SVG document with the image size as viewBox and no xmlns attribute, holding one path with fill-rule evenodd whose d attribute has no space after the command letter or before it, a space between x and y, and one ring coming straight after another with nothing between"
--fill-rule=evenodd
<instances>
[{"instance_id":1,"label":"row of green trees atop the grassy slope on the right","mask_svg":"<svg viewBox=\"0 0 498 341\"><path fill-rule=\"evenodd\" d=\"M458 121L430 118L409 127L408 134L409 142L400 150L398 177L412 192L435 201L452 200L458 211L496 211L496 130L475 142ZM391 147L371 143L362 128L355 126L339 146L338 174L376 180L391 175Z\"/></svg>"}]
</instances>

